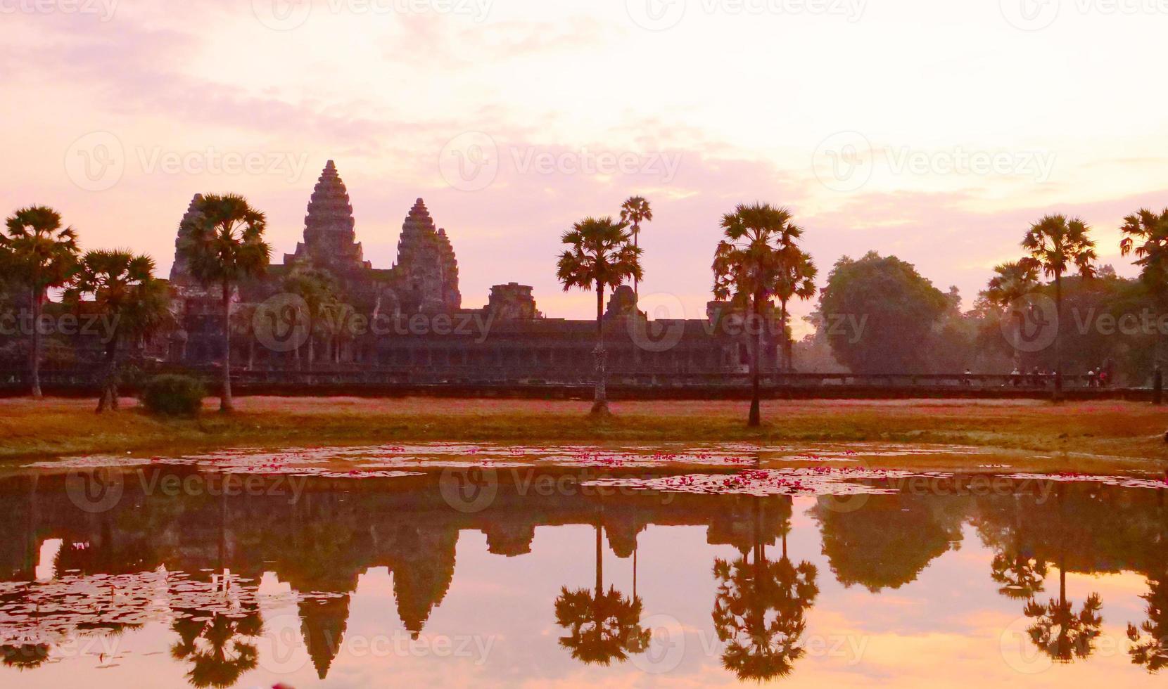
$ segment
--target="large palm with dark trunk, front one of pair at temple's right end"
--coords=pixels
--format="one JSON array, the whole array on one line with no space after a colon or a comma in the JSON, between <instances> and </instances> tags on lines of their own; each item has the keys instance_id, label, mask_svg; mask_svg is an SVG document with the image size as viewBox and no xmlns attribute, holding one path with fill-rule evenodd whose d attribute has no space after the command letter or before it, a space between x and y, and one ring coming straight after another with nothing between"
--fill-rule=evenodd
<instances>
[{"instance_id":1,"label":"large palm with dark trunk, front one of pair at temple's right end","mask_svg":"<svg viewBox=\"0 0 1168 689\"><path fill-rule=\"evenodd\" d=\"M742 311L753 315L757 339L751 357L751 426L762 424L759 412L759 376L763 357L764 318L773 311L772 299L783 273L784 253L790 258L791 242L799 230L791 223L786 208L770 203L738 204L722 217L725 238L714 252L714 297L730 299Z\"/></svg>"}]
</instances>

